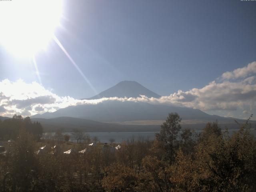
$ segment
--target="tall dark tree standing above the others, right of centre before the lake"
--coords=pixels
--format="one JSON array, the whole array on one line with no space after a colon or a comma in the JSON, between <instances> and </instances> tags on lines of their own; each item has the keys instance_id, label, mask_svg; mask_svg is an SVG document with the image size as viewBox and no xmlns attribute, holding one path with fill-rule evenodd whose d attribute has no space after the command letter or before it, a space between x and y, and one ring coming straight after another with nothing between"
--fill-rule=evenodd
<instances>
[{"instance_id":1,"label":"tall dark tree standing above the others, right of centre before the lake","mask_svg":"<svg viewBox=\"0 0 256 192\"><path fill-rule=\"evenodd\" d=\"M167 160L170 164L173 162L174 148L177 147L177 136L180 131L181 118L176 112L169 114L166 122L161 125L160 133L156 133L156 140L158 146L163 148L165 154L163 155L164 160Z\"/></svg>"}]
</instances>

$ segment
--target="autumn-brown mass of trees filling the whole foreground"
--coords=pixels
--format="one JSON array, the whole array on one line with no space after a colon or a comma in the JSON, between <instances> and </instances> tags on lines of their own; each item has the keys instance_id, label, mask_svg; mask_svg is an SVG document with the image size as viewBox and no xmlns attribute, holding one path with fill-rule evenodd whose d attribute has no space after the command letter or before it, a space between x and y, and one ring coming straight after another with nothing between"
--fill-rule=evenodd
<instances>
[{"instance_id":1,"label":"autumn-brown mass of trees filling the whole foreground","mask_svg":"<svg viewBox=\"0 0 256 192\"><path fill-rule=\"evenodd\" d=\"M18 128L11 150L0 154L0 188L4 173L11 172L6 189L15 186L17 192L254 192L256 139L249 120L233 133L208 123L197 135L181 130L180 116L171 113L154 141L131 138L118 148L100 142L89 146L89 140L57 142L54 150L54 138L38 142L30 120L15 116L0 123ZM61 132L57 135L63 140ZM70 154L63 153L71 146Z\"/></svg>"}]
</instances>

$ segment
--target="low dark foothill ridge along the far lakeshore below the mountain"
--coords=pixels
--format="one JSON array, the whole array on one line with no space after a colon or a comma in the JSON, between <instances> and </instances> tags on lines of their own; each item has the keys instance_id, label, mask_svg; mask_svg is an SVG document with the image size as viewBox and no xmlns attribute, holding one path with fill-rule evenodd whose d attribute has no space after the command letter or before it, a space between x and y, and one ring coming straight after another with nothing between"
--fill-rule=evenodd
<instances>
[{"instance_id":1,"label":"low dark foothill ridge along the far lakeshore below the mountain","mask_svg":"<svg viewBox=\"0 0 256 192\"><path fill-rule=\"evenodd\" d=\"M51 119L32 118L32 122L40 122L44 128L44 132L56 132L62 130L63 132L72 132L74 128L80 129L82 132L158 132L160 125L129 125L104 123L81 118L58 117ZM254 121L255 125L256 122ZM190 128L192 130L202 130L205 123L198 124L181 124L182 129ZM220 128L238 129L239 125L236 123L220 123Z\"/></svg>"}]
</instances>

